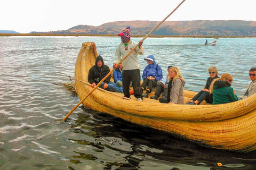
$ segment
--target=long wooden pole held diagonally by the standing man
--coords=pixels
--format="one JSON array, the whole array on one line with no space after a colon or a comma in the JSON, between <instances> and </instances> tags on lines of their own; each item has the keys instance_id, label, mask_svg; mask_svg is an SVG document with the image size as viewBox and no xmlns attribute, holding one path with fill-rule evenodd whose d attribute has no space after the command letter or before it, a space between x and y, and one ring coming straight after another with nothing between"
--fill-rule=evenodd
<instances>
[{"instance_id":1,"label":"long wooden pole held diagonally by the standing man","mask_svg":"<svg viewBox=\"0 0 256 170\"><path fill-rule=\"evenodd\" d=\"M163 21L161 21L160 23L158 23L155 28L153 28L144 38L142 38L141 41L143 42L153 31L155 31L155 29L157 29L157 28L159 27L159 25L161 25L167 18L169 18L169 16L170 16L174 11L176 11L176 10L180 7L180 5L181 5L183 2L185 2L185 1L186 1L186 0L183 0L169 15L167 15L167 16L165 17L165 19L163 19ZM122 59L121 61L119 61L119 62L116 64L116 67L117 67L120 63L122 63L138 46L139 46L139 44L135 45L135 46L132 48L132 50L131 50L128 54L126 54L126 56L123 57L123 59ZM81 101L79 101L79 103L78 103L73 109L71 109L71 111L63 118L63 121L65 121L66 118L68 118L68 116L69 116L71 113L73 113L73 112L75 111L75 109L76 109L80 104L82 104L83 101L84 101L88 96L90 96L90 95L92 94L92 92L93 92L94 90L96 90L96 89L100 86L100 84L101 84L103 81L105 81L105 80L109 77L109 75L112 74L112 72L113 72L114 70L115 70L115 69L112 69L112 70L105 76L105 78L103 78L103 79L97 84L97 86L95 86Z\"/></svg>"}]
</instances>

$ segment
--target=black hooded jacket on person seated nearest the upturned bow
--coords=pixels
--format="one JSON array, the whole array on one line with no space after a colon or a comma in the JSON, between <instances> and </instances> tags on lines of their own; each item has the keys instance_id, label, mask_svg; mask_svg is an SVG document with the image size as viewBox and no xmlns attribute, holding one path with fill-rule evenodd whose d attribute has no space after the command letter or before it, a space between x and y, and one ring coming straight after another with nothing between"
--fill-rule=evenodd
<instances>
[{"instance_id":1,"label":"black hooded jacket on person seated nearest the upturned bow","mask_svg":"<svg viewBox=\"0 0 256 170\"><path fill-rule=\"evenodd\" d=\"M98 67L97 62L101 60L102 66ZM91 67L88 74L88 81L92 83L98 84L103 78L106 77L106 75L110 72L109 67L107 65L104 65L103 58L99 55L96 58L95 65ZM111 78L111 75L104 81L105 83L109 83Z\"/></svg>"}]
</instances>

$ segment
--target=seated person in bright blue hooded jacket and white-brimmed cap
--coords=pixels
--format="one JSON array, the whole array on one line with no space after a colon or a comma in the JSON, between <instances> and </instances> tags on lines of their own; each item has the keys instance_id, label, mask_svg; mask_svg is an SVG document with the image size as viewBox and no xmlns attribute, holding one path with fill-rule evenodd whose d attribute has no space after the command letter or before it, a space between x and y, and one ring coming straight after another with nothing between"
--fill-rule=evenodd
<instances>
[{"instance_id":1,"label":"seated person in bright blue hooded jacket and white-brimmed cap","mask_svg":"<svg viewBox=\"0 0 256 170\"><path fill-rule=\"evenodd\" d=\"M144 58L144 60L148 65L145 67L142 74L143 82L141 84L141 93L146 89L146 87L148 87L146 94L143 95L143 97L147 98L153 87L157 87L157 81L160 81L163 78L163 71L161 66L156 64L155 57L153 55L149 55L147 58Z\"/></svg>"}]
</instances>

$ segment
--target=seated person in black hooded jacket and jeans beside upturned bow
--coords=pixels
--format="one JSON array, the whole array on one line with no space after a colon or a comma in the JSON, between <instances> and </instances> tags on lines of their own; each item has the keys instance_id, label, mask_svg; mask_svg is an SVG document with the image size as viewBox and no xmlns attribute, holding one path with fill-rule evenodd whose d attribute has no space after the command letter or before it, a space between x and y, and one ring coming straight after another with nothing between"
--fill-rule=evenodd
<instances>
[{"instance_id":1,"label":"seated person in black hooded jacket and jeans beside upturned bow","mask_svg":"<svg viewBox=\"0 0 256 170\"><path fill-rule=\"evenodd\" d=\"M91 83L91 87L95 87L109 72L109 67L104 64L103 58L99 55L96 58L95 65L89 70L88 81ZM111 75L99 87L108 91L123 92L123 88L111 82L110 78Z\"/></svg>"}]
</instances>

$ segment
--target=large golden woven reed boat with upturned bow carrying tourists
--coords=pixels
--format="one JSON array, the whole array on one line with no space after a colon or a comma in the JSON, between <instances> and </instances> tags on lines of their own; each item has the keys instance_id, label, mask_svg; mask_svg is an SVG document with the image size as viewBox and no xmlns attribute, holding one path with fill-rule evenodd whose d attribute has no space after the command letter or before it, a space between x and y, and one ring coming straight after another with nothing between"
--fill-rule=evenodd
<instances>
[{"instance_id":1,"label":"large golden woven reed boat with upturned bow carrying tourists","mask_svg":"<svg viewBox=\"0 0 256 170\"><path fill-rule=\"evenodd\" d=\"M93 89L87 75L97 56L93 42L82 44L75 66L75 86L80 99ZM184 93L185 102L197 94L188 90ZM134 96L125 98L123 94L98 88L83 101L83 105L201 146L236 152L256 149L256 94L221 105L169 105L149 98L138 102Z\"/></svg>"}]
</instances>

